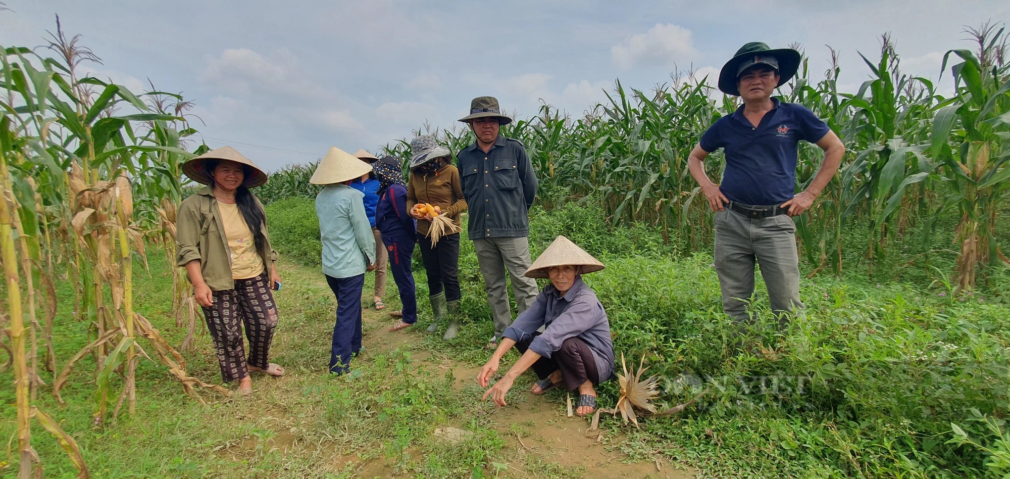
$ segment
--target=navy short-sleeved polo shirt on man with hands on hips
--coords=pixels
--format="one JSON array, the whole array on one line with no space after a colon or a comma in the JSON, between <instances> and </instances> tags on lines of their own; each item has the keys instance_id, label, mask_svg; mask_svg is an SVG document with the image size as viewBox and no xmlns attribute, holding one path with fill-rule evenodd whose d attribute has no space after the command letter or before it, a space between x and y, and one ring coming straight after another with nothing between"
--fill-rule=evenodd
<instances>
[{"instance_id":1,"label":"navy short-sleeved polo shirt on man with hands on hips","mask_svg":"<svg viewBox=\"0 0 1010 479\"><path fill-rule=\"evenodd\" d=\"M743 116L743 105L712 123L701 137L701 149L724 149L726 170L719 190L730 201L776 205L796 194L796 155L801 139L816 143L831 128L812 111L772 98L775 107L754 127Z\"/></svg>"}]
</instances>

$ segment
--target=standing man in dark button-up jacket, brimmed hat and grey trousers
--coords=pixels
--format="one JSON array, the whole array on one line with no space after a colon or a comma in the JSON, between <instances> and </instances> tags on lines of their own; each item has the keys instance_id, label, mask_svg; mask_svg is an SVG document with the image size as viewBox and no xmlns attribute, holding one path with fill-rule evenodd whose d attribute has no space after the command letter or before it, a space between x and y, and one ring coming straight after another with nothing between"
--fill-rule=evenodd
<instances>
[{"instance_id":1,"label":"standing man in dark button-up jacket, brimmed hat and grey trousers","mask_svg":"<svg viewBox=\"0 0 1010 479\"><path fill-rule=\"evenodd\" d=\"M477 141L457 155L463 194L470 207L469 236L484 276L484 287L495 320L495 336L488 347L497 348L502 332L512 323L505 270L519 311L525 311L538 292L536 280L524 275L529 259L529 208L536 197L536 174L517 139L499 134L512 118L502 114L498 100L475 98L470 115L460 119L470 125Z\"/></svg>"}]
</instances>

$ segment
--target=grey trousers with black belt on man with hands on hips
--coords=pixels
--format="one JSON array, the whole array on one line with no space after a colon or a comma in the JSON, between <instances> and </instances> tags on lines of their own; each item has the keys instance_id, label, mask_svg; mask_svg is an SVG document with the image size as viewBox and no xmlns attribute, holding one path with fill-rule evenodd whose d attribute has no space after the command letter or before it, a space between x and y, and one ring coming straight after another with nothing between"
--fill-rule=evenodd
<instances>
[{"instance_id":1,"label":"grey trousers with black belt on man with hands on hips","mask_svg":"<svg viewBox=\"0 0 1010 479\"><path fill-rule=\"evenodd\" d=\"M754 292L754 261L768 288L772 311L785 325L800 301L796 224L788 215L748 218L728 208L715 213L715 272L722 309L733 320L749 321L747 303Z\"/></svg>"}]
</instances>

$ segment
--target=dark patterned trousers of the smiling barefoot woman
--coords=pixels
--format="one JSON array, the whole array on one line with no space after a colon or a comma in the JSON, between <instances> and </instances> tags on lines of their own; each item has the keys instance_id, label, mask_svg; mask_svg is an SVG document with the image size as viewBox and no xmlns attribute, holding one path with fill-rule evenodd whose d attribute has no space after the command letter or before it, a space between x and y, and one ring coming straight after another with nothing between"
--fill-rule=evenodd
<instances>
[{"instance_id":1,"label":"dark patterned trousers of the smiling barefoot woman","mask_svg":"<svg viewBox=\"0 0 1010 479\"><path fill-rule=\"evenodd\" d=\"M213 291L214 305L203 308L214 341L221 379L231 382L248 376L246 365L267 369L270 342L277 328L277 306L264 271L255 278L235 280L235 289ZM248 359L242 346L242 326L249 343Z\"/></svg>"}]
</instances>

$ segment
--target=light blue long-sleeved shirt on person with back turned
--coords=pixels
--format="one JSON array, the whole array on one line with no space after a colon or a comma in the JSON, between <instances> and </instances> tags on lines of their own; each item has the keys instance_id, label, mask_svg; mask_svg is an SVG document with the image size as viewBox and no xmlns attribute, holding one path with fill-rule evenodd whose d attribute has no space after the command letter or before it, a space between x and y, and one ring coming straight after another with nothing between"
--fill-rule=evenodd
<instances>
[{"instance_id":1,"label":"light blue long-sleeved shirt on person with back turned","mask_svg":"<svg viewBox=\"0 0 1010 479\"><path fill-rule=\"evenodd\" d=\"M365 274L375 263L376 240L365 213L365 195L347 185L329 185L316 195L322 272L333 278Z\"/></svg>"}]
</instances>

